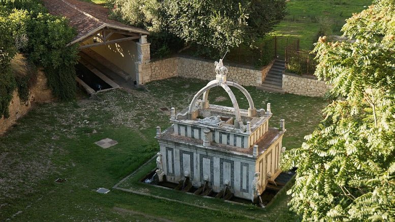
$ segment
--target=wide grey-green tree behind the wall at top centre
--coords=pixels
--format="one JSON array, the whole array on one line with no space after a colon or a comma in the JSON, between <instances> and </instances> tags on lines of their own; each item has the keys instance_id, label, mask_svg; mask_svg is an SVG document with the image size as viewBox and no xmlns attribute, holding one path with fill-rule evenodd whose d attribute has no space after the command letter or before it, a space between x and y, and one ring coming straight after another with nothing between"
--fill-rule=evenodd
<instances>
[{"instance_id":1,"label":"wide grey-green tree behind the wall at top centre","mask_svg":"<svg viewBox=\"0 0 395 222\"><path fill-rule=\"evenodd\" d=\"M251 44L285 15L285 0L112 0L131 25L165 31L190 43L225 51Z\"/></svg>"}]
</instances>

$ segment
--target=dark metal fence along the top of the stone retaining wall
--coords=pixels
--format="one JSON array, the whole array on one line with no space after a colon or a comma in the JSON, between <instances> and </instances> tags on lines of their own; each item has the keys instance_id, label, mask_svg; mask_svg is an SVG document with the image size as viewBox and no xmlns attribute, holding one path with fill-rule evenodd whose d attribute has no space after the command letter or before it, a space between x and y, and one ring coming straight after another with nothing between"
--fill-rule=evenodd
<instances>
[{"instance_id":1,"label":"dark metal fence along the top of the stone retaining wall","mask_svg":"<svg viewBox=\"0 0 395 222\"><path fill-rule=\"evenodd\" d=\"M161 58L168 55L184 54L204 59L218 60L223 55L215 49L201 45L185 45L180 41L159 41L151 44L151 57ZM273 59L285 60L285 67L296 74L314 74L317 65L315 55L310 50L299 48L299 39L288 36L266 36L254 48L247 45L229 49L225 61L234 64L262 67Z\"/></svg>"}]
</instances>

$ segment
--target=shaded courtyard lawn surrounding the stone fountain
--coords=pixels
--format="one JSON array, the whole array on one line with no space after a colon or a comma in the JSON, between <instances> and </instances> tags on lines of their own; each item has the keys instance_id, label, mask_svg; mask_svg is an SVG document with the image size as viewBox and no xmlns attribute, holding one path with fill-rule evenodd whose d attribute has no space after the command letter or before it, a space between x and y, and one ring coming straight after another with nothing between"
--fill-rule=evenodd
<instances>
[{"instance_id":1,"label":"shaded courtyard lawn surrounding the stone fountain","mask_svg":"<svg viewBox=\"0 0 395 222\"><path fill-rule=\"evenodd\" d=\"M169 113L161 112L160 107L173 106L178 111L185 108L206 83L172 78L147 84L149 92L118 89L100 93L100 100L83 97L76 102L34 108L0 137L0 221L233 221L246 220L240 216L243 213L260 214L269 220L292 220L294 215L288 211L288 197L284 194L267 211L212 200L219 208L237 212L230 214L227 210L196 209L114 189L106 195L95 192L99 187L111 188L158 151L155 127L165 129L170 125ZM288 148L299 146L302 137L321 119L320 110L325 105L321 99L247 88L257 108L271 102L271 126L278 125L280 118L286 119L284 145ZM247 100L241 99L236 90L235 94L240 107L246 108ZM219 88L211 90L209 98L211 103L230 104ZM94 144L103 138L118 144L108 149ZM55 183L56 178L66 181Z\"/></svg>"}]
</instances>

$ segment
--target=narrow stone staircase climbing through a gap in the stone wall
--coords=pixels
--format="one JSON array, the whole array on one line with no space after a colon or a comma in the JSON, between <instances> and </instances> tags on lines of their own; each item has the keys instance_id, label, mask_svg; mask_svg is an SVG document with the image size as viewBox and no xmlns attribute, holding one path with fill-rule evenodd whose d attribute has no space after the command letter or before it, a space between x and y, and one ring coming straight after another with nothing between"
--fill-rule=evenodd
<instances>
[{"instance_id":1,"label":"narrow stone staircase climbing through a gap in the stone wall","mask_svg":"<svg viewBox=\"0 0 395 222\"><path fill-rule=\"evenodd\" d=\"M276 59L273 66L266 75L265 80L257 89L270 92L285 93L283 90L283 71L285 70L285 61Z\"/></svg>"}]
</instances>

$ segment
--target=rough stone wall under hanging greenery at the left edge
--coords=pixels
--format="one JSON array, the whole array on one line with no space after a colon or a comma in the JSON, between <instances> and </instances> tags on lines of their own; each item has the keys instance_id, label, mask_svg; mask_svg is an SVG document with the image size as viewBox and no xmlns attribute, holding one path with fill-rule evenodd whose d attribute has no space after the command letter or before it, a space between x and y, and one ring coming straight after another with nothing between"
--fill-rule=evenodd
<instances>
[{"instance_id":1,"label":"rough stone wall under hanging greenery at the left edge","mask_svg":"<svg viewBox=\"0 0 395 222\"><path fill-rule=\"evenodd\" d=\"M39 70L37 75L37 82L30 90L29 98L26 102L19 99L17 90L13 93L13 98L9 105L10 116L0 118L0 135L5 133L16 120L25 115L31 108L32 104L37 102L48 102L53 100L52 91L47 86L47 78L45 74Z\"/></svg>"}]
</instances>

